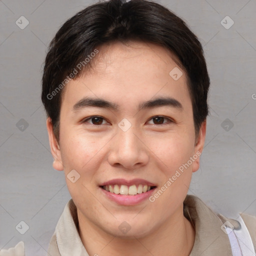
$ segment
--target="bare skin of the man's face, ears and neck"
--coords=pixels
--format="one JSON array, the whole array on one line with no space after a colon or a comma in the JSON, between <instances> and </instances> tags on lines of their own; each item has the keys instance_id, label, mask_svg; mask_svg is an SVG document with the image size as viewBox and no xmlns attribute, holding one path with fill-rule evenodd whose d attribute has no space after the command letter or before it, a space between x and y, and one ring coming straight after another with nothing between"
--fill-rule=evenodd
<instances>
[{"instance_id":1,"label":"bare skin of the man's face, ears and neck","mask_svg":"<svg viewBox=\"0 0 256 256\"><path fill-rule=\"evenodd\" d=\"M195 231L183 216L183 200L199 157L154 202L118 205L99 188L114 178L142 178L158 190L189 157L202 151L206 121L196 137L185 72L156 44L116 42L98 49L93 68L65 87L59 143L50 118L46 121L53 167L64 170L65 177L72 169L80 174L75 183L66 177L66 184L77 207L81 240L89 255L189 255ZM169 75L174 67L183 72L176 81ZM120 109L72 111L84 96L104 98ZM182 109L137 110L140 102L159 96L173 97ZM103 118L100 124L95 119L81 122L92 115ZM159 124L152 118L157 115L170 120L160 119ZM123 118L131 123L125 132L118 127ZM118 228L123 221L131 227L126 234Z\"/></svg>"}]
</instances>

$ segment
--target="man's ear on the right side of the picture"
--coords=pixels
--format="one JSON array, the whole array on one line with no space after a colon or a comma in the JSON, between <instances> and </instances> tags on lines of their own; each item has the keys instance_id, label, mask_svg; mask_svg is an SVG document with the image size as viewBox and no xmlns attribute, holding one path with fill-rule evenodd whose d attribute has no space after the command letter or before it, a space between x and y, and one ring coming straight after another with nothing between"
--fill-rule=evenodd
<instances>
[{"instance_id":1,"label":"man's ear on the right side of the picture","mask_svg":"<svg viewBox=\"0 0 256 256\"><path fill-rule=\"evenodd\" d=\"M200 130L199 130L196 142L195 142L194 155L197 155L198 157L193 162L192 172L195 172L196 170L199 169L200 155L202 153L205 135L206 135L206 119L201 124Z\"/></svg>"}]
</instances>

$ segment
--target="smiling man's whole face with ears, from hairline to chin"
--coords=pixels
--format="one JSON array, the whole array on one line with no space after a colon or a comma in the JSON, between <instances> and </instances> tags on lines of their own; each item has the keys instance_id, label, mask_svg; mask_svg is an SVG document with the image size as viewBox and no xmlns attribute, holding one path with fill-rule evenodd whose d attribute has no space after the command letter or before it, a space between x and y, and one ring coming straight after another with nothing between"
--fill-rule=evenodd
<instances>
[{"instance_id":1,"label":"smiling man's whole face with ears, from hairline to chin","mask_svg":"<svg viewBox=\"0 0 256 256\"><path fill-rule=\"evenodd\" d=\"M205 122L196 139L185 72L166 49L98 49L93 69L65 87L59 146L47 120L53 167L64 170L79 223L142 237L183 214Z\"/></svg>"}]
</instances>

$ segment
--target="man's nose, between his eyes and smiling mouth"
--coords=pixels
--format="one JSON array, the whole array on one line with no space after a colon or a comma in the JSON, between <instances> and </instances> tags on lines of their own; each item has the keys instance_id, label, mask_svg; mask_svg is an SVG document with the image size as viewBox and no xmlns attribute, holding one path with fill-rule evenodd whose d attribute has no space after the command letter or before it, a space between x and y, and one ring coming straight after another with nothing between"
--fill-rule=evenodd
<instances>
[{"instance_id":1,"label":"man's nose, between his eyes and smiling mouth","mask_svg":"<svg viewBox=\"0 0 256 256\"><path fill-rule=\"evenodd\" d=\"M140 168L149 160L148 150L142 135L133 126L126 131L117 128L109 148L108 162L115 167Z\"/></svg>"}]
</instances>

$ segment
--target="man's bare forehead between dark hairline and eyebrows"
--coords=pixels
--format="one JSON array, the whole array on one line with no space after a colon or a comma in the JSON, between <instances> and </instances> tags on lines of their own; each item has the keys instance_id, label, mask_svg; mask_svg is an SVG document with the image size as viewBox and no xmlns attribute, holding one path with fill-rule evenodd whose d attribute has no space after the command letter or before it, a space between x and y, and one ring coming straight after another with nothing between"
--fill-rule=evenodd
<instances>
[{"instance_id":1,"label":"man's bare forehead between dark hairline and eyebrows","mask_svg":"<svg viewBox=\"0 0 256 256\"><path fill-rule=\"evenodd\" d=\"M67 84L62 101L68 99L76 103L87 94L112 102L113 99L141 102L159 93L160 96L173 94L179 101L189 97L185 71L166 48L154 43L129 41L112 42L97 49L99 52L91 60L91 68ZM175 68L182 74L177 80L170 75Z\"/></svg>"}]
</instances>

